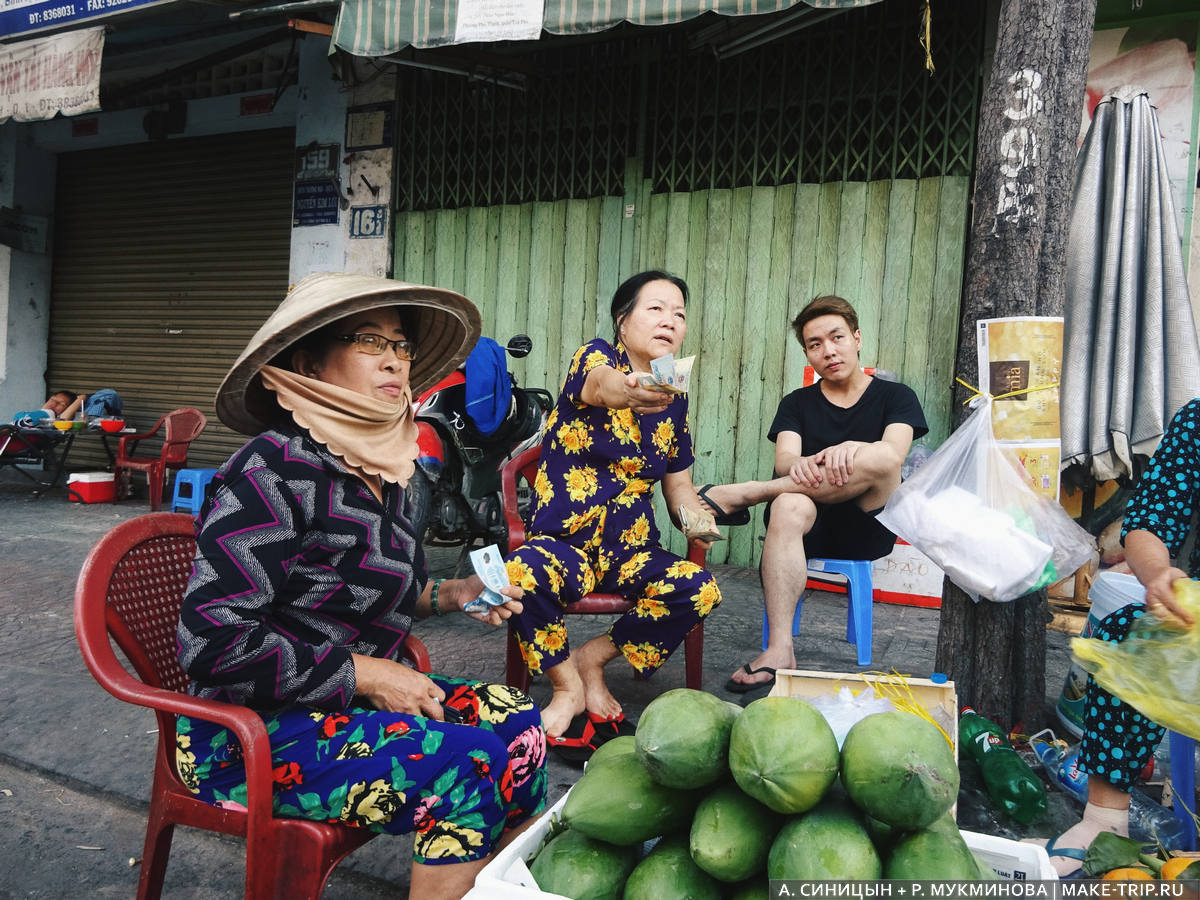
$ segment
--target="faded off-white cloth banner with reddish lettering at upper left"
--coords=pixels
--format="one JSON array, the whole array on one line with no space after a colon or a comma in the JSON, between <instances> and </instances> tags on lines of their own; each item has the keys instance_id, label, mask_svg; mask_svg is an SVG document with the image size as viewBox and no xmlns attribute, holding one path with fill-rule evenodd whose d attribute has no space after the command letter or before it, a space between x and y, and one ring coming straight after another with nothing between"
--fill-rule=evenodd
<instances>
[{"instance_id":1,"label":"faded off-white cloth banner with reddish lettering at upper left","mask_svg":"<svg viewBox=\"0 0 1200 900\"><path fill-rule=\"evenodd\" d=\"M100 109L104 26L0 44L0 122Z\"/></svg>"}]
</instances>

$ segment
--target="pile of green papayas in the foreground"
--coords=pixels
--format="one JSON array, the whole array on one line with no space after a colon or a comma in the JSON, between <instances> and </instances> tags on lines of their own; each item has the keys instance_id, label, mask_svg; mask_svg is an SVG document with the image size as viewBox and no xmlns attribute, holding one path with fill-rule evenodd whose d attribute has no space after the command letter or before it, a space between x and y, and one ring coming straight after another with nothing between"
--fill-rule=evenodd
<instances>
[{"instance_id":1,"label":"pile of green papayas in the foreground","mask_svg":"<svg viewBox=\"0 0 1200 900\"><path fill-rule=\"evenodd\" d=\"M798 697L743 709L672 690L635 736L596 750L530 871L572 900L764 899L770 878L995 878L954 823L958 792L950 745L911 713L866 716L839 751Z\"/></svg>"}]
</instances>

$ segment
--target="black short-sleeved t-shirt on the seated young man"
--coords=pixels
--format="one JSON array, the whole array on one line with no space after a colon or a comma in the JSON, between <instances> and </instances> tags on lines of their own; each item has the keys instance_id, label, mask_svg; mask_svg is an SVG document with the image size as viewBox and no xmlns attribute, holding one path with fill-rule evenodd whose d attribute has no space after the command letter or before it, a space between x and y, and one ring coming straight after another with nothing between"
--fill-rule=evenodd
<instances>
[{"instance_id":1,"label":"black short-sleeved t-shirt on the seated young man","mask_svg":"<svg viewBox=\"0 0 1200 900\"><path fill-rule=\"evenodd\" d=\"M794 431L800 436L800 452L811 456L844 440L880 440L895 422L911 425L914 440L929 432L920 401L907 385L871 378L858 402L842 409L826 398L817 382L779 402L767 437L775 440L781 431Z\"/></svg>"}]
</instances>

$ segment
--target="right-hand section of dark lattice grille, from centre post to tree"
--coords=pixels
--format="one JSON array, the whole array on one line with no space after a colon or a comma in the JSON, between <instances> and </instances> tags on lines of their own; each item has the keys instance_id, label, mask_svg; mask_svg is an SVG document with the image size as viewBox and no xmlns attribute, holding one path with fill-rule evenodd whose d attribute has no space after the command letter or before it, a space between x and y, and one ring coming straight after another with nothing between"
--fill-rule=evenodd
<instances>
[{"instance_id":1,"label":"right-hand section of dark lattice grille, from centre post to tree","mask_svg":"<svg viewBox=\"0 0 1200 900\"><path fill-rule=\"evenodd\" d=\"M983 4L937 8L934 74L905 2L726 60L677 52L650 78L653 190L968 175Z\"/></svg>"}]
</instances>

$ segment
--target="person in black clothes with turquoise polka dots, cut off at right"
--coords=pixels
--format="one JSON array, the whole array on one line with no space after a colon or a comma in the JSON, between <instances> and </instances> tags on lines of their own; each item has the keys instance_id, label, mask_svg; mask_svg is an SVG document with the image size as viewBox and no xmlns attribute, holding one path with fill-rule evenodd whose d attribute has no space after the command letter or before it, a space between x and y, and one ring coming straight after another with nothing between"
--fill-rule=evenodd
<instances>
[{"instance_id":1,"label":"person in black clothes with turquoise polka dots, cut off at right","mask_svg":"<svg viewBox=\"0 0 1200 900\"><path fill-rule=\"evenodd\" d=\"M1123 641L1145 613L1192 628L1192 616L1180 606L1171 586L1200 576L1200 542L1192 550L1186 572L1174 564L1198 500L1200 400L1193 400L1175 414L1126 508L1121 540L1130 570L1146 588L1145 606L1130 604L1105 617L1093 637ZM1087 679L1080 751L1088 774L1087 806L1079 824L1046 845L1060 875L1080 868L1084 850L1100 832L1129 834L1129 792L1163 733L1162 726Z\"/></svg>"}]
</instances>

